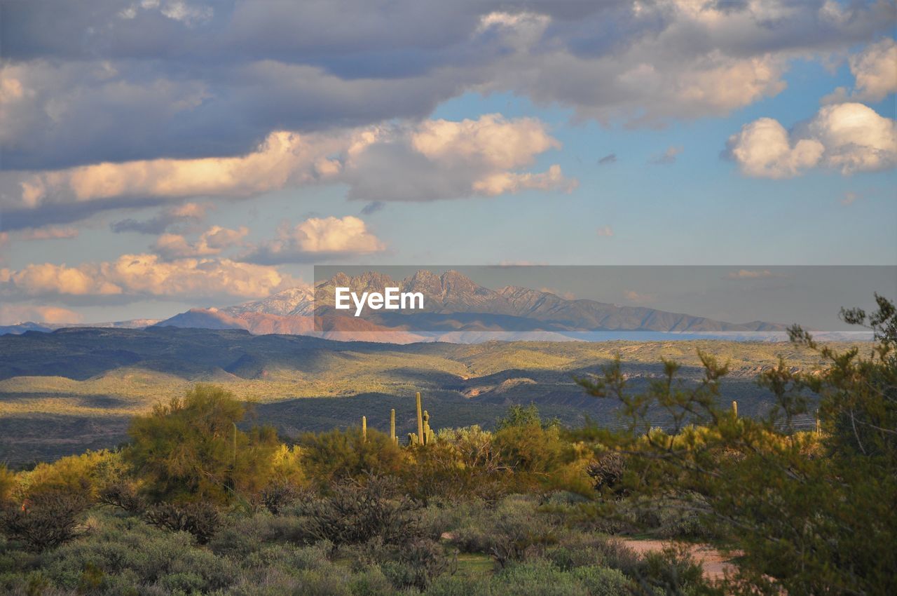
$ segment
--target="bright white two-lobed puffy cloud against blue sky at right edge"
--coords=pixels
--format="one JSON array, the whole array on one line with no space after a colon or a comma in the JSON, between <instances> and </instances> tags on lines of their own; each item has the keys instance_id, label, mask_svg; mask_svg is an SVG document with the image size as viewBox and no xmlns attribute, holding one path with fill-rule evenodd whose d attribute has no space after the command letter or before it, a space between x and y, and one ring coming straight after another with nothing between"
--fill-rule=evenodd
<instances>
[{"instance_id":1,"label":"bright white two-lobed puffy cloud against blue sky at right edge","mask_svg":"<svg viewBox=\"0 0 897 596\"><path fill-rule=\"evenodd\" d=\"M849 175L897 163L897 123L861 103L823 106L788 131L760 118L730 136L727 154L746 176L790 178L817 166Z\"/></svg>"}]
</instances>

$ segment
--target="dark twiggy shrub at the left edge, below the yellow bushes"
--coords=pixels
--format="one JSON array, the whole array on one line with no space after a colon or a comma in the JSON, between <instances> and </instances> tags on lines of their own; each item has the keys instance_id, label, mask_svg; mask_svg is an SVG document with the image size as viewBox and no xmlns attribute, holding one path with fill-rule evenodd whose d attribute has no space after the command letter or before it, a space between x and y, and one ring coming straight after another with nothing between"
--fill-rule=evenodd
<instances>
[{"instance_id":1,"label":"dark twiggy shrub at the left edge, below the yellow bushes","mask_svg":"<svg viewBox=\"0 0 897 596\"><path fill-rule=\"evenodd\" d=\"M21 506L7 504L0 513L0 529L32 550L56 548L83 531L80 519L88 505L83 494L40 492Z\"/></svg>"}]
</instances>

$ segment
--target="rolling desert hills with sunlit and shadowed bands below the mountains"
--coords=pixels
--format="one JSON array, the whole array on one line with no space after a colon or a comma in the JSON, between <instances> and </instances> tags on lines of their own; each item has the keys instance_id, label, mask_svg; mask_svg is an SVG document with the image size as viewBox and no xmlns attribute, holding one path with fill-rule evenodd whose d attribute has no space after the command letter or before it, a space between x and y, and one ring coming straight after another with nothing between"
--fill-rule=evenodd
<instances>
[{"instance_id":1,"label":"rolling desert hills with sunlit and shadowed bands below the mountains","mask_svg":"<svg viewBox=\"0 0 897 596\"><path fill-rule=\"evenodd\" d=\"M129 416L199 381L257 401L257 419L287 434L353 425L362 414L385 424L389 408L404 428L415 390L437 426L490 425L509 404L530 402L569 424L586 414L614 424L605 402L573 377L597 373L619 351L635 386L661 373L662 357L681 362L693 381L699 347L731 361L726 399L747 416L765 410L753 377L778 355L805 369L819 364L787 344L715 340L391 345L231 329L28 332L0 337L0 460L113 445Z\"/></svg>"}]
</instances>

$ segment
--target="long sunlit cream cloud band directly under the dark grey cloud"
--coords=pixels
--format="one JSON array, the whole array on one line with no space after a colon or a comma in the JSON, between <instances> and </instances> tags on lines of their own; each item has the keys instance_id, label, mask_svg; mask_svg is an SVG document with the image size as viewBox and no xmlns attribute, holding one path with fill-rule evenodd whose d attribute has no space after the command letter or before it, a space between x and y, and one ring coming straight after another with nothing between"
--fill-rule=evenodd
<instances>
[{"instance_id":1,"label":"long sunlit cream cloud band directly under the dark grey cloud","mask_svg":"<svg viewBox=\"0 0 897 596\"><path fill-rule=\"evenodd\" d=\"M536 118L497 114L461 121L353 128L329 134L274 132L257 150L239 157L103 162L5 178L0 206L13 212L51 205L113 208L135 197L252 197L287 186L342 182L361 200L431 200L494 196L528 188L570 189L560 166L519 171L536 155L561 145ZM74 213L78 213L77 210ZM113 223L113 231L161 231L197 220L189 203L149 222Z\"/></svg>"}]
</instances>

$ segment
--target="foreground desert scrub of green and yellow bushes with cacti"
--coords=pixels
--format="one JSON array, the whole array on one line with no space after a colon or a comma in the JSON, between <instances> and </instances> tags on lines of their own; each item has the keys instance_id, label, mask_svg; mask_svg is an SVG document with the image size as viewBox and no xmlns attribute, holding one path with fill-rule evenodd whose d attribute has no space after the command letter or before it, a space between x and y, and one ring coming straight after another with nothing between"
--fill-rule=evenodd
<instances>
[{"instance_id":1,"label":"foreground desert scrub of green and yellow bushes with cacti","mask_svg":"<svg viewBox=\"0 0 897 596\"><path fill-rule=\"evenodd\" d=\"M762 372L762 417L733 410L706 353L696 383L669 360L637 390L619 358L578 377L617 405L613 429L513 406L490 430L421 414L411 436L359 418L288 437L196 385L118 449L0 468L0 592L894 593L897 312L879 298L842 316L875 343L792 329L826 364ZM795 428L817 409L818 429ZM669 547L630 548L648 537Z\"/></svg>"}]
</instances>

